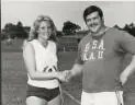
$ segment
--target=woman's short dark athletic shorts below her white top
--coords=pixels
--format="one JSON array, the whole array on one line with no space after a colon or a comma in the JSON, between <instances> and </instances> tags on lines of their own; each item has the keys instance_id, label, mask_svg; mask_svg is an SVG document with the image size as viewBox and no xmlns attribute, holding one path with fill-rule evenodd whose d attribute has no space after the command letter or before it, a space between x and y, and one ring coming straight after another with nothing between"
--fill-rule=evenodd
<instances>
[{"instance_id":1,"label":"woman's short dark athletic shorts below her white top","mask_svg":"<svg viewBox=\"0 0 135 105\"><path fill-rule=\"evenodd\" d=\"M45 89L45 88L36 88L27 84L26 97L29 96L37 96L44 98L45 101L49 102L56 96L59 95L59 88L56 89Z\"/></svg>"}]
</instances>

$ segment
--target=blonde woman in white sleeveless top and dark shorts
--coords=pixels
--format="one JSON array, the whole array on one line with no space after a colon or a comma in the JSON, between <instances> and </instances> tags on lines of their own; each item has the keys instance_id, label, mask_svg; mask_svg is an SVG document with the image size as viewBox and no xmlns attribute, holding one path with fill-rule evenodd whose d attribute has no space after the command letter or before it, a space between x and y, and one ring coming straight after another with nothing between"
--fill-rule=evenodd
<instances>
[{"instance_id":1,"label":"blonde woman in white sleeveless top and dark shorts","mask_svg":"<svg viewBox=\"0 0 135 105\"><path fill-rule=\"evenodd\" d=\"M57 70L56 43L53 20L47 15L37 16L23 46L29 77L26 105L60 105L58 81L65 81L66 72Z\"/></svg>"}]
</instances>

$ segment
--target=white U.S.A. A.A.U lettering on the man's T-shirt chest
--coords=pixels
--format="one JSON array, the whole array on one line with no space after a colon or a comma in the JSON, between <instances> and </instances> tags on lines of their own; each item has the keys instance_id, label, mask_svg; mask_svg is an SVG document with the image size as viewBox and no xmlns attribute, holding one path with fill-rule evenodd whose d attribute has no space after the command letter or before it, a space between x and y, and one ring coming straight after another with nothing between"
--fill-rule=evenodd
<instances>
[{"instance_id":1,"label":"white U.S.A. A.A.U lettering on the man's T-shirt chest","mask_svg":"<svg viewBox=\"0 0 135 105\"><path fill-rule=\"evenodd\" d=\"M101 39L100 42L93 40L92 43L89 42L85 46L82 59L86 60L95 60L95 59L103 59L104 52L104 42Z\"/></svg>"}]
</instances>

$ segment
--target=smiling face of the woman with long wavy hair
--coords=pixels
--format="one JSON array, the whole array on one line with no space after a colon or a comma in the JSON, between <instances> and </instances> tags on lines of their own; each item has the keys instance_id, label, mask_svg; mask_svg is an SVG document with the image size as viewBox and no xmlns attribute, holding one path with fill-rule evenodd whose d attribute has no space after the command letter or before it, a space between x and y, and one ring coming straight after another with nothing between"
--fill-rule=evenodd
<instances>
[{"instance_id":1,"label":"smiling face of the woman with long wavy hair","mask_svg":"<svg viewBox=\"0 0 135 105\"><path fill-rule=\"evenodd\" d=\"M50 23L48 21L41 22L37 32L38 32L38 38L42 38L42 39L45 39L45 40L48 39L50 34L52 34Z\"/></svg>"}]
</instances>

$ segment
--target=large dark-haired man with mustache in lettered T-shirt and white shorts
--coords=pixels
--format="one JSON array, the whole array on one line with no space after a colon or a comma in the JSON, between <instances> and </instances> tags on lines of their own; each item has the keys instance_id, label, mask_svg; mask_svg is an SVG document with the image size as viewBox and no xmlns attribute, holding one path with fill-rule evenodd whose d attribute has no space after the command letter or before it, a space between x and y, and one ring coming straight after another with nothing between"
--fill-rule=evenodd
<instances>
[{"instance_id":1,"label":"large dark-haired man with mustache in lettered T-shirt and white shorts","mask_svg":"<svg viewBox=\"0 0 135 105\"><path fill-rule=\"evenodd\" d=\"M135 38L105 26L99 7L88 7L83 20L89 33L79 43L78 57L67 80L82 73L81 105L122 105L122 85L135 69ZM126 54L132 54L133 60L123 70Z\"/></svg>"}]
</instances>

